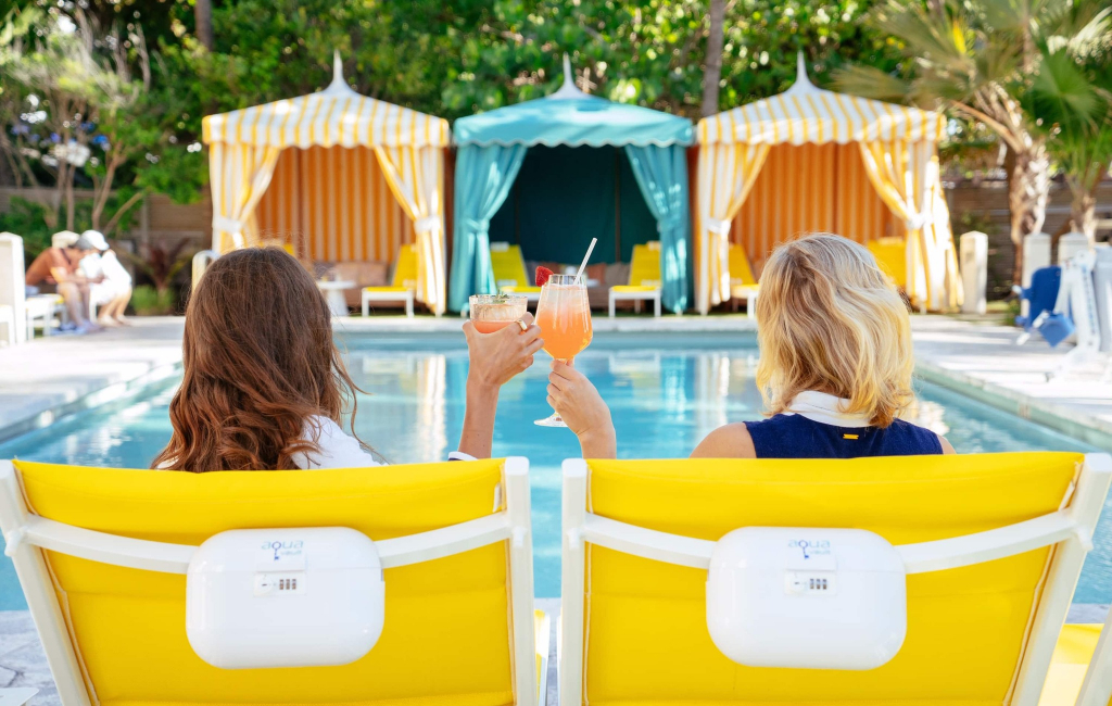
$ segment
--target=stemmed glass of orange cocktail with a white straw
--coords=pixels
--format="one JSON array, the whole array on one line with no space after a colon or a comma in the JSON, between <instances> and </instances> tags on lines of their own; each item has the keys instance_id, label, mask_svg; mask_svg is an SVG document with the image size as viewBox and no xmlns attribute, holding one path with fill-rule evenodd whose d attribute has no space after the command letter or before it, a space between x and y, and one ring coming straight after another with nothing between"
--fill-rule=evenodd
<instances>
[{"instance_id":1,"label":"stemmed glass of orange cocktail with a white straw","mask_svg":"<svg viewBox=\"0 0 1112 706\"><path fill-rule=\"evenodd\" d=\"M590 342L590 306L587 287L575 275L553 275L540 288L537 326L545 341L545 352L570 364ZM542 427L567 427L558 414L535 422Z\"/></svg>"}]
</instances>

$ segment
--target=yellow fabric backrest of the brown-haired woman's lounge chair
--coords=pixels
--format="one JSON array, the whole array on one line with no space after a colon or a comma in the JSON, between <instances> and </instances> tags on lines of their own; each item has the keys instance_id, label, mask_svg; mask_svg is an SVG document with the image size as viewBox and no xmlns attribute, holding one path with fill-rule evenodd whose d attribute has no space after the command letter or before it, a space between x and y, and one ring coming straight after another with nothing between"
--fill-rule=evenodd
<instances>
[{"instance_id":1,"label":"yellow fabric backrest of the brown-haired woman's lounge chair","mask_svg":"<svg viewBox=\"0 0 1112 706\"><path fill-rule=\"evenodd\" d=\"M14 461L19 486L8 471L4 487L16 493L21 487L27 509L38 516L136 539L196 546L234 528L337 526L381 541L489 518L506 507L503 464L188 474ZM0 513L7 517L0 519L10 527L11 499L7 489L3 494ZM527 513L527 500L525 506ZM514 551L502 540L386 568L381 638L361 659L334 667L226 670L206 664L187 640L182 575L41 550L50 577L42 586L53 584L48 593L57 597L64 620L58 632L67 640L72 636L78 679L83 673L92 695L86 703L494 706L515 698L517 628L507 620L509 574L518 570ZM20 570L29 603L30 574ZM532 573L519 583L528 584L529 644L523 662L529 669ZM39 632L49 655L60 638L41 624ZM53 662L51 668L57 677Z\"/></svg>"}]
</instances>

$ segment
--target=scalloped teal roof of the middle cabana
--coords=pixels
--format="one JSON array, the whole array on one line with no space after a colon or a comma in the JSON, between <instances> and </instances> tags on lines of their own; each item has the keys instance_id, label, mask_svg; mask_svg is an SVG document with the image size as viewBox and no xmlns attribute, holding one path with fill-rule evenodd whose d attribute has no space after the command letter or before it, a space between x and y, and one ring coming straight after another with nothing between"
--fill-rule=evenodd
<instances>
[{"instance_id":1,"label":"scalloped teal roof of the middle cabana","mask_svg":"<svg viewBox=\"0 0 1112 706\"><path fill-rule=\"evenodd\" d=\"M588 96L572 82L564 58L564 86L552 96L456 120L457 145L555 147L692 145L686 118Z\"/></svg>"}]
</instances>

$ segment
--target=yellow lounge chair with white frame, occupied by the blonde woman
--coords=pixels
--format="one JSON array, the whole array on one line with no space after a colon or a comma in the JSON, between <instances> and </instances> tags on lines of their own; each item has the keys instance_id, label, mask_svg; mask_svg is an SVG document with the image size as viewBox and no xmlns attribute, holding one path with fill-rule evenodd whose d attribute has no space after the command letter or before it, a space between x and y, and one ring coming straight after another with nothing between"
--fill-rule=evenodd
<instances>
[{"instance_id":1,"label":"yellow lounge chair with white frame, occupied by the blonde woman","mask_svg":"<svg viewBox=\"0 0 1112 706\"><path fill-rule=\"evenodd\" d=\"M1034 706L1110 478L1104 454L564 461L560 704ZM707 568L743 527L856 528L895 545L895 656L867 670L727 658ZM840 551L835 540L834 560L852 559Z\"/></svg>"}]
</instances>

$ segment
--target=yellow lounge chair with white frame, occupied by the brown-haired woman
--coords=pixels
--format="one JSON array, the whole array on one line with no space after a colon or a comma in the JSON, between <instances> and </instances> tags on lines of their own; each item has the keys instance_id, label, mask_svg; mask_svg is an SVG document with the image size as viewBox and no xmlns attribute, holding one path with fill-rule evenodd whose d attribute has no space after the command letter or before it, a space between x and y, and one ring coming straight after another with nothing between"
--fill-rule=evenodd
<instances>
[{"instance_id":1,"label":"yellow lounge chair with white frame, occupied by the brown-haired woman","mask_svg":"<svg viewBox=\"0 0 1112 706\"><path fill-rule=\"evenodd\" d=\"M0 525L66 706L536 704L535 646L547 640L534 636L523 458L199 475L0 461ZM203 662L186 625L197 546L308 527L374 540L377 644L341 666ZM304 559L306 594L320 557L310 547ZM258 571L274 570L259 560L246 567L256 591Z\"/></svg>"}]
</instances>

